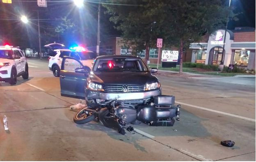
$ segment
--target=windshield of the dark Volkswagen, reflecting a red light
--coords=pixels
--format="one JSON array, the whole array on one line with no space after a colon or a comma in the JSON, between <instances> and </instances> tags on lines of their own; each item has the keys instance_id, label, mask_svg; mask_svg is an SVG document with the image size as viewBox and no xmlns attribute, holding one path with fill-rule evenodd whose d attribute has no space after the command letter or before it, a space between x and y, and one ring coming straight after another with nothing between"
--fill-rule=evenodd
<instances>
[{"instance_id":1,"label":"windshield of the dark Volkswagen, reflecting a red light","mask_svg":"<svg viewBox=\"0 0 256 162\"><path fill-rule=\"evenodd\" d=\"M97 59L94 69L95 72L145 72L149 71L142 59L130 58L110 58Z\"/></svg>"}]
</instances>

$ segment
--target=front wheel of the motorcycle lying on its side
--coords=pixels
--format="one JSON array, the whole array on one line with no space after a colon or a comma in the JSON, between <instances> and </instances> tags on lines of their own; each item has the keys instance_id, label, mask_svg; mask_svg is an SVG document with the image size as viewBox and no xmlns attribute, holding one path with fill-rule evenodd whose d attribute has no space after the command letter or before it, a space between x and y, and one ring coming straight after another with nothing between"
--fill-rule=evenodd
<instances>
[{"instance_id":1,"label":"front wheel of the motorcycle lying on its side","mask_svg":"<svg viewBox=\"0 0 256 162\"><path fill-rule=\"evenodd\" d=\"M73 120L76 124L85 124L89 123L90 121L93 121L96 118L96 115L94 114L94 110L87 109L88 107L85 107L81 110L79 110Z\"/></svg>"}]
</instances>

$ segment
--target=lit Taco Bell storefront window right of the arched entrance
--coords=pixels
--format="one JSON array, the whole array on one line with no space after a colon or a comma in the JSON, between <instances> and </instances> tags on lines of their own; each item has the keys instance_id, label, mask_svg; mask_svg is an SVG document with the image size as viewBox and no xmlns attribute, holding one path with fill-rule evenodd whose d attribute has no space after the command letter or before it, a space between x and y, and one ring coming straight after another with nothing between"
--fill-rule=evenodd
<instances>
[{"instance_id":1,"label":"lit Taco Bell storefront window right of the arched entrance","mask_svg":"<svg viewBox=\"0 0 256 162\"><path fill-rule=\"evenodd\" d=\"M247 66L249 60L250 51L249 50L235 50L234 62L233 64L238 66Z\"/></svg>"}]
</instances>

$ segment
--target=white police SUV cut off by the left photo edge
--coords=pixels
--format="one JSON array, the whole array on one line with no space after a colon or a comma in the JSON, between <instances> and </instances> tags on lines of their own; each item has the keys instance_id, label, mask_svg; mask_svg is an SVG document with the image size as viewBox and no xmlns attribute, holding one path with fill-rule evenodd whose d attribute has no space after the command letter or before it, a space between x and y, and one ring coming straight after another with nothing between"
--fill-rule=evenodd
<instances>
[{"instance_id":1,"label":"white police SUV cut off by the left photo edge","mask_svg":"<svg viewBox=\"0 0 256 162\"><path fill-rule=\"evenodd\" d=\"M17 83L17 77L28 79L27 58L17 47L0 46L0 82Z\"/></svg>"}]
</instances>

